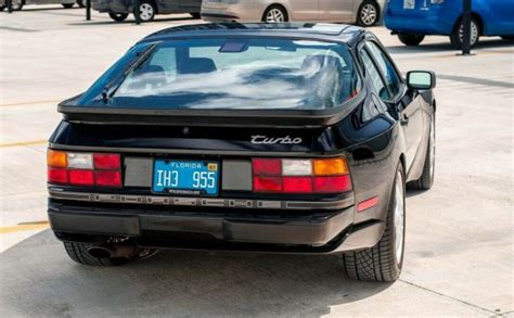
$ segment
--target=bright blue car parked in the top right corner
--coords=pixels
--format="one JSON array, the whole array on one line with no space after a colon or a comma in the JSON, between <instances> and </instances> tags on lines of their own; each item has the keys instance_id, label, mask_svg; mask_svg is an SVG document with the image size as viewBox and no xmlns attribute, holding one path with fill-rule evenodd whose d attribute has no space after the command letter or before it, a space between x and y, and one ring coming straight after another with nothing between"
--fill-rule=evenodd
<instances>
[{"instance_id":1,"label":"bright blue car parked in the top right corner","mask_svg":"<svg viewBox=\"0 0 514 318\"><path fill-rule=\"evenodd\" d=\"M462 0L388 0L385 25L406 46L417 46L426 35L445 35L461 49L462 7ZM514 39L514 0L472 1L472 47L480 36Z\"/></svg>"}]
</instances>

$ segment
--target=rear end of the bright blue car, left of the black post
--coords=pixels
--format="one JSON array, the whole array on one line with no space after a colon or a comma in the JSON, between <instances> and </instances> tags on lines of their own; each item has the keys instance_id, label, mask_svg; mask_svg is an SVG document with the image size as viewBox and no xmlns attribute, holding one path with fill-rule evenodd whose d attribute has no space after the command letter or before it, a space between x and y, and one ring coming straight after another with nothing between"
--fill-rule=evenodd
<instances>
[{"instance_id":1,"label":"rear end of the bright blue car, left of the black post","mask_svg":"<svg viewBox=\"0 0 514 318\"><path fill-rule=\"evenodd\" d=\"M388 1L384 22L395 33L450 35L462 4L451 0Z\"/></svg>"}]
</instances>

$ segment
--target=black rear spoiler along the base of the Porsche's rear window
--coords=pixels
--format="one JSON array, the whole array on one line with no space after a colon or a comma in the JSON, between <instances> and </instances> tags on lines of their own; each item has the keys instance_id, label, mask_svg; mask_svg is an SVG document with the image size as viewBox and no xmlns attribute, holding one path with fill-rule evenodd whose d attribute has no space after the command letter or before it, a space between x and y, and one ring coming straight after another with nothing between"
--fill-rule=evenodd
<instances>
[{"instance_id":1,"label":"black rear spoiler along the base of the Porsche's rear window","mask_svg":"<svg viewBox=\"0 0 514 318\"><path fill-rule=\"evenodd\" d=\"M170 125L209 127L314 128L337 124L364 99L365 92L329 110L140 110L77 106L77 98L59 104L66 122L98 125Z\"/></svg>"}]
</instances>

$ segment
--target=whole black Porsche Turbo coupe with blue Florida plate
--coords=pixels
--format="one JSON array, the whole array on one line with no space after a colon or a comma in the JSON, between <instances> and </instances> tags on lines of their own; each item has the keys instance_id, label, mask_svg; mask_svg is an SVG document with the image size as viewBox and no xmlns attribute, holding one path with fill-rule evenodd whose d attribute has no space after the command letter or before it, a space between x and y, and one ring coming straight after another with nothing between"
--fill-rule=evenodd
<instances>
[{"instance_id":1,"label":"whole black Porsche Turbo coupe with blue Florida plate","mask_svg":"<svg viewBox=\"0 0 514 318\"><path fill-rule=\"evenodd\" d=\"M59 105L52 230L86 265L158 249L338 253L349 277L393 281L406 185L433 185L434 87L355 26L164 29Z\"/></svg>"}]
</instances>

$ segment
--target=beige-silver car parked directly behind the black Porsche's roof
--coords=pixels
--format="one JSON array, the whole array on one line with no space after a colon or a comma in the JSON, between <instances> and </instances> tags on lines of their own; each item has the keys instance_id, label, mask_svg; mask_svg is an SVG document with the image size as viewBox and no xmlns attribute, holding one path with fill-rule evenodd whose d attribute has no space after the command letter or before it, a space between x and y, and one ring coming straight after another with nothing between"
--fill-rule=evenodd
<instances>
[{"instance_id":1,"label":"beige-silver car parked directly behind the black Porsche's roof","mask_svg":"<svg viewBox=\"0 0 514 318\"><path fill-rule=\"evenodd\" d=\"M376 24L385 0L204 0L202 18L231 22L343 22Z\"/></svg>"}]
</instances>

